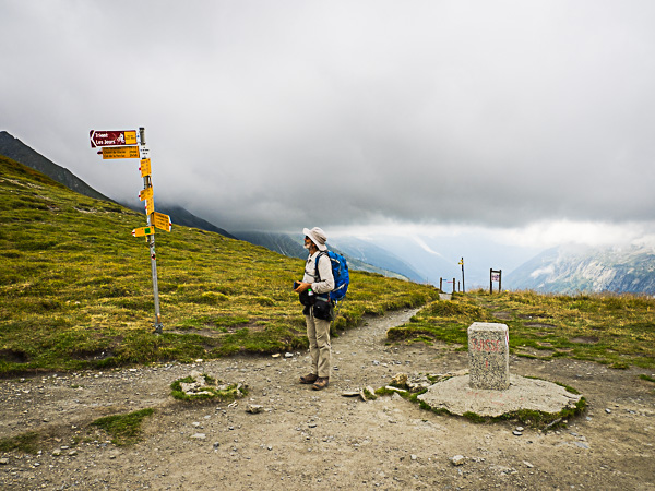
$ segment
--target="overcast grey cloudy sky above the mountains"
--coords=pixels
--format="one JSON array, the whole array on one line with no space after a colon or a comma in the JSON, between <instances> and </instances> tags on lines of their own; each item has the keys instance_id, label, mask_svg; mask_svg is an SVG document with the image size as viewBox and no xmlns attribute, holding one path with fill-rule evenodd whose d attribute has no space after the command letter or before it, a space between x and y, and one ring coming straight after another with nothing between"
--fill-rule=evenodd
<instances>
[{"instance_id":1,"label":"overcast grey cloudy sky above the mountains","mask_svg":"<svg viewBox=\"0 0 655 491\"><path fill-rule=\"evenodd\" d=\"M644 236L654 26L652 0L0 0L0 130L138 203L88 131L145 127L155 202L233 231Z\"/></svg>"}]
</instances>

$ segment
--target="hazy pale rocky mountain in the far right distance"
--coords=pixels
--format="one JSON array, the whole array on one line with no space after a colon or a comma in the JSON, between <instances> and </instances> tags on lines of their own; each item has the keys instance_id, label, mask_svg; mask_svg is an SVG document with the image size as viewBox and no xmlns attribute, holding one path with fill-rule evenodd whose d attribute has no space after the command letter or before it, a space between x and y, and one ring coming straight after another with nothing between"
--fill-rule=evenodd
<instances>
[{"instance_id":1,"label":"hazy pale rocky mountain in the far right distance","mask_svg":"<svg viewBox=\"0 0 655 491\"><path fill-rule=\"evenodd\" d=\"M553 248L517 267L503 285L541 292L655 295L655 250L638 244Z\"/></svg>"}]
</instances>

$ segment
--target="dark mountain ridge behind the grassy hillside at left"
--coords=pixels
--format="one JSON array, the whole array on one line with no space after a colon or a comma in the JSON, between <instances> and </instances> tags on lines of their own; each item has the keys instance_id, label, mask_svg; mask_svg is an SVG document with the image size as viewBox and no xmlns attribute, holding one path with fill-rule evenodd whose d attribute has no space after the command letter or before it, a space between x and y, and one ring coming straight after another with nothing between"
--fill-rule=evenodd
<instances>
[{"instance_id":1,"label":"dark mountain ridge behind the grassy hillside at left","mask_svg":"<svg viewBox=\"0 0 655 491\"><path fill-rule=\"evenodd\" d=\"M38 170L45 173L50 179L66 185L72 191L83 194L95 200L109 201L117 203L115 200L105 196L99 193L78 176L72 173L70 170L55 164L52 160L44 157L41 154L25 145L19 139L12 136L7 131L0 131L0 155L11 158L24 166L27 166L34 170ZM134 209L135 212L143 213L142 206L131 206L126 203L119 203L127 208ZM221 233L222 236L235 239L236 237L228 231L216 227L213 224L193 215L191 212L182 208L178 205L168 205L157 203L157 211L169 215L172 219L174 225L181 225L186 227L200 228L202 230L213 231Z\"/></svg>"}]
</instances>

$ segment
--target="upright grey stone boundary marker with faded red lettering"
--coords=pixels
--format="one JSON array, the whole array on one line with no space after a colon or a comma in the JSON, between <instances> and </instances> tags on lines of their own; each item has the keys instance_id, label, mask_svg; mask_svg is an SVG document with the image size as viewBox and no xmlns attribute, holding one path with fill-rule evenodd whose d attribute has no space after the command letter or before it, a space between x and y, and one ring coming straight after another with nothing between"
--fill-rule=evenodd
<instances>
[{"instance_id":1,"label":"upright grey stone boundary marker with faded red lettering","mask_svg":"<svg viewBox=\"0 0 655 491\"><path fill-rule=\"evenodd\" d=\"M474 322L468 327L471 388L510 388L510 335L505 324Z\"/></svg>"}]
</instances>

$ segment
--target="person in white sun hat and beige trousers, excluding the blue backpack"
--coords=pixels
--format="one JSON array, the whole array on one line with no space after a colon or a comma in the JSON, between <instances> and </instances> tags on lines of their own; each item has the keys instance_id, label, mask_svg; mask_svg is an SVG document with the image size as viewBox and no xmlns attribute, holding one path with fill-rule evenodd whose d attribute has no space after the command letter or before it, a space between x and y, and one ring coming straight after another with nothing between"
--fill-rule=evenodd
<instances>
[{"instance_id":1,"label":"person in white sun hat and beige trousers, excluding the blue backpack","mask_svg":"<svg viewBox=\"0 0 655 491\"><path fill-rule=\"evenodd\" d=\"M330 291L334 289L334 276L330 258L325 253L327 251L325 232L319 227L311 230L305 228L302 232L309 258L305 265L302 282L296 284L294 291L300 294L300 302L305 306L302 313L307 321L311 371L300 378L300 383L313 384L312 388L320 391L330 383L332 368L330 324L334 309L330 301Z\"/></svg>"}]
</instances>

